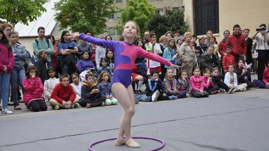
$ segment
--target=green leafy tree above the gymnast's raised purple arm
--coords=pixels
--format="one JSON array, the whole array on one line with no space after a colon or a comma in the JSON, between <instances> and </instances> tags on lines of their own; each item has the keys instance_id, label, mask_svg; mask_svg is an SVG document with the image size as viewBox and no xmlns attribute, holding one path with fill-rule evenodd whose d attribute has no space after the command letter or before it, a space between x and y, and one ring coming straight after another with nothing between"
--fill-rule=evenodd
<instances>
[{"instance_id":1,"label":"green leafy tree above the gymnast's raised purple arm","mask_svg":"<svg viewBox=\"0 0 269 151\"><path fill-rule=\"evenodd\" d=\"M70 28L72 32L90 30L93 34L107 31L106 21L111 13L115 13L114 0L60 0L55 3L60 29Z\"/></svg>"}]
</instances>

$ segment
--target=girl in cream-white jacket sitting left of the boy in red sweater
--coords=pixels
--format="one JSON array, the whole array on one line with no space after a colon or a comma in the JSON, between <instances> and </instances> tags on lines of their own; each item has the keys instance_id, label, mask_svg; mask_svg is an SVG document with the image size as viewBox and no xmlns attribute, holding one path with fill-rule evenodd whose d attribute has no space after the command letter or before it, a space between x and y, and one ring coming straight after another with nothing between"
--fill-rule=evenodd
<instances>
[{"instance_id":1,"label":"girl in cream-white jacket sitting left of the boy in red sweater","mask_svg":"<svg viewBox=\"0 0 269 151\"><path fill-rule=\"evenodd\" d=\"M44 82L44 93L46 95L46 102L50 100L50 96L52 93L52 90L55 88L57 84L60 83L59 79L55 77L55 69L54 68L48 68L47 70L47 80Z\"/></svg>"}]
</instances>

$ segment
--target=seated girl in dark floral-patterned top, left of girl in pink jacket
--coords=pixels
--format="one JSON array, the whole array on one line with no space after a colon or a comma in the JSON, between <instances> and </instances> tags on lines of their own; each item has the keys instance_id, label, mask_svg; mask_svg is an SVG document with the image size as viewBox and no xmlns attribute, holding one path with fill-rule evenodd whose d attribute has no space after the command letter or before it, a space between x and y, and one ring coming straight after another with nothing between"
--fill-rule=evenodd
<instances>
[{"instance_id":1,"label":"seated girl in dark floral-patterned top, left of girl in pink jacket","mask_svg":"<svg viewBox=\"0 0 269 151\"><path fill-rule=\"evenodd\" d=\"M186 70L181 70L180 78L177 81L177 90L180 93L186 91L186 97L190 97L190 78L188 77L188 72Z\"/></svg>"}]
</instances>

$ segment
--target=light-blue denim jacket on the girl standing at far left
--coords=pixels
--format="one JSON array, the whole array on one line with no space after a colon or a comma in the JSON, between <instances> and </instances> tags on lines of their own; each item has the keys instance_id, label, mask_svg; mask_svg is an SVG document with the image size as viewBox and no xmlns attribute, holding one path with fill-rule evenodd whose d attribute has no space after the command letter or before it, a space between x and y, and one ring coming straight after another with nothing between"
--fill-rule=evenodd
<instances>
[{"instance_id":1,"label":"light-blue denim jacket on the girl standing at far left","mask_svg":"<svg viewBox=\"0 0 269 151\"><path fill-rule=\"evenodd\" d=\"M14 66L23 66L24 65L24 58L27 58L27 52L24 49L23 45L16 43L16 46L11 45L14 56Z\"/></svg>"}]
</instances>

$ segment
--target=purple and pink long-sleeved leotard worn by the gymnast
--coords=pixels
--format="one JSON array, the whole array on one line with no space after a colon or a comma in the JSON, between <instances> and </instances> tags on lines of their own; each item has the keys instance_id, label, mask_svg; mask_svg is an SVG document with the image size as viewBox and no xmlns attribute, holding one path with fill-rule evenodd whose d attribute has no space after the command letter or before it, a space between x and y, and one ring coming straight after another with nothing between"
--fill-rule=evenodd
<instances>
[{"instance_id":1,"label":"purple and pink long-sleeved leotard worn by the gymnast","mask_svg":"<svg viewBox=\"0 0 269 151\"><path fill-rule=\"evenodd\" d=\"M116 82L123 84L126 88L132 83L131 75L135 65L135 58L138 56L160 62L167 66L171 66L171 63L166 59L151 52L147 52L146 50L135 46L134 44L129 44L126 41L107 41L104 39L90 37L85 34L80 34L79 39L113 50L115 62L111 87L113 83Z\"/></svg>"}]
</instances>

